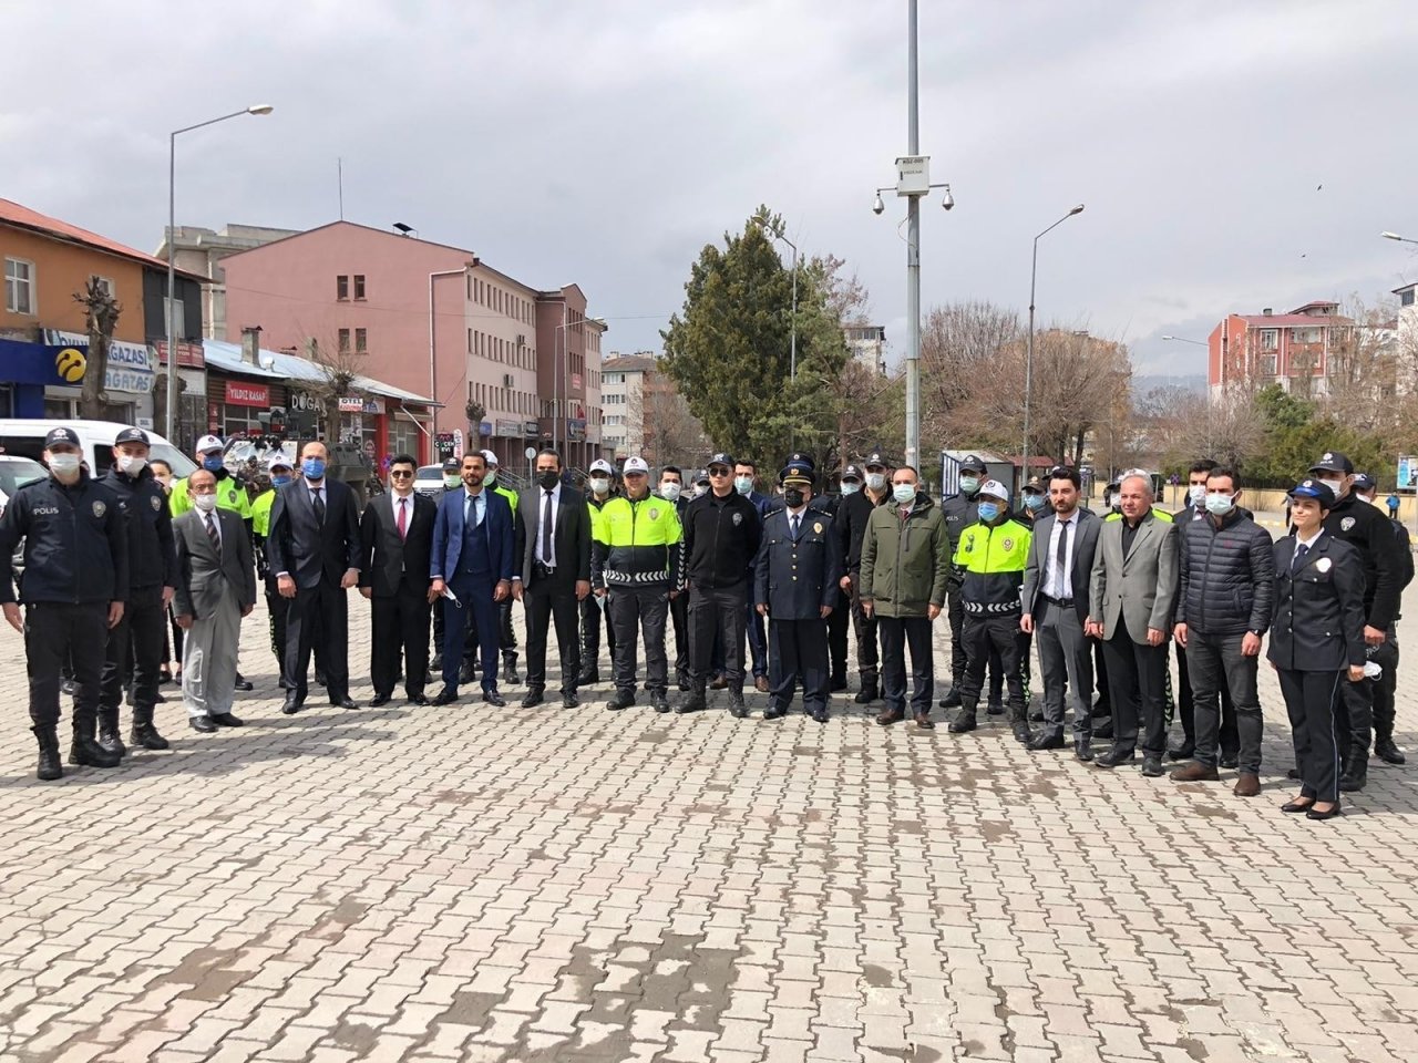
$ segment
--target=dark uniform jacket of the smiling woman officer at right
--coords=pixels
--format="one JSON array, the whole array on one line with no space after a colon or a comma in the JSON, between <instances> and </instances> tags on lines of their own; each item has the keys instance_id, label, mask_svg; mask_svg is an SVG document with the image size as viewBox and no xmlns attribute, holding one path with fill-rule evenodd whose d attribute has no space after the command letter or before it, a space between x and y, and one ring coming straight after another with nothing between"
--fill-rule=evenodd
<instances>
[{"instance_id":1,"label":"dark uniform jacket of the smiling woman officer at right","mask_svg":"<svg viewBox=\"0 0 1418 1063\"><path fill-rule=\"evenodd\" d=\"M1339 672L1364 663L1364 566L1349 543L1324 532L1296 571L1295 536L1275 544L1275 622L1269 659L1296 672Z\"/></svg>"}]
</instances>

